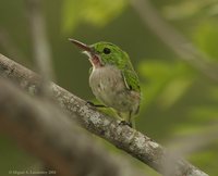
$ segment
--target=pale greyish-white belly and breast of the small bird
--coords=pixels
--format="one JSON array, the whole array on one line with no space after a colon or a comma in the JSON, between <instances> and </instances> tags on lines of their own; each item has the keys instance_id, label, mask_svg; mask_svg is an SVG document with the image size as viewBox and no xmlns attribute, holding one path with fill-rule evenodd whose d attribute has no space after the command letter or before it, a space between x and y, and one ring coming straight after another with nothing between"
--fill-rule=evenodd
<instances>
[{"instance_id":1,"label":"pale greyish-white belly and breast of the small bird","mask_svg":"<svg viewBox=\"0 0 218 176\"><path fill-rule=\"evenodd\" d=\"M140 106L138 92L129 90L121 72L113 66L95 68L89 77L95 97L118 112L135 114Z\"/></svg>"}]
</instances>

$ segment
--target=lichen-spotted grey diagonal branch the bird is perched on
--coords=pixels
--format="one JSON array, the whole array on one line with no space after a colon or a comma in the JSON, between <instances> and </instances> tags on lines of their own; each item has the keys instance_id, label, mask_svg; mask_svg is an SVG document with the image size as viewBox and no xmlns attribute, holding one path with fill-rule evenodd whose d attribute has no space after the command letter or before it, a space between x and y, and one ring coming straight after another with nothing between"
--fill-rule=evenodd
<instances>
[{"instance_id":1,"label":"lichen-spotted grey diagonal branch the bird is perched on","mask_svg":"<svg viewBox=\"0 0 218 176\"><path fill-rule=\"evenodd\" d=\"M1 54L0 74L3 77L13 79L20 87L29 92L37 92L39 76ZM84 128L110 141L160 174L165 175L167 173L166 163L169 163L168 159L171 160L172 158L159 143L129 126L121 126L119 122L89 108L86 105L86 101L56 84L50 83L50 87L53 98L70 114L76 114L76 116L72 115L71 117L80 122ZM182 159L173 159L172 163L172 176L207 176L207 174Z\"/></svg>"}]
</instances>

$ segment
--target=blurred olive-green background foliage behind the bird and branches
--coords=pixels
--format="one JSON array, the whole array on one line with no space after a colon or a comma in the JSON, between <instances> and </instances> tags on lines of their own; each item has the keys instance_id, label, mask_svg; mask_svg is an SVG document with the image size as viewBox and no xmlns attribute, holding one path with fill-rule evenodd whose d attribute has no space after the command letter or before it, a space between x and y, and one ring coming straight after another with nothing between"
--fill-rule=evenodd
<instances>
[{"instance_id":1,"label":"blurred olive-green background foliage behind the bird and branches","mask_svg":"<svg viewBox=\"0 0 218 176\"><path fill-rule=\"evenodd\" d=\"M95 100L88 86L90 64L68 41L69 37L89 45L104 40L120 46L130 54L142 84L137 129L209 175L218 175L216 78L174 53L126 0L41 2L57 84L85 100ZM207 55L206 63L217 64L217 0L153 0L152 3L166 23ZM28 15L25 0L0 1L0 52L37 71ZM204 64L204 60L197 62ZM126 155L107 142L106 146ZM131 160L149 175L158 175ZM37 159L9 136L0 134L0 175L7 175L10 169L27 169L37 163Z\"/></svg>"}]
</instances>

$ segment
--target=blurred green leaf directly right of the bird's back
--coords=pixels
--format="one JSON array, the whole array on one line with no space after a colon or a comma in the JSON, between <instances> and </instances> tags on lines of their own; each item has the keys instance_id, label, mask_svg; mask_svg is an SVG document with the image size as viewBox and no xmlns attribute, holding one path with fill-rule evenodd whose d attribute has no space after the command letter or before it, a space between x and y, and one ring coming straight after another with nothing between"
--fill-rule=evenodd
<instances>
[{"instance_id":1,"label":"blurred green leaf directly right of the bird's back","mask_svg":"<svg viewBox=\"0 0 218 176\"><path fill-rule=\"evenodd\" d=\"M180 62L146 61L140 65L140 74L145 78L145 84L142 84L144 109L154 101L161 108L170 108L194 81L193 72Z\"/></svg>"}]
</instances>

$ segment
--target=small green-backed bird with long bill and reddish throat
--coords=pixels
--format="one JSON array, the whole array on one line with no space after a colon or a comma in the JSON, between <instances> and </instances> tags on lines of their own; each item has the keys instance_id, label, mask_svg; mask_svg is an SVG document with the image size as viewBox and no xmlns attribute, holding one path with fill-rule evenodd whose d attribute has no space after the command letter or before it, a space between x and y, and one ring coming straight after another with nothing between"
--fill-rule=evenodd
<instances>
[{"instance_id":1,"label":"small green-backed bird with long bill and reddish throat","mask_svg":"<svg viewBox=\"0 0 218 176\"><path fill-rule=\"evenodd\" d=\"M111 42L100 41L87 46L75 39L69 40L88 55L93 65L89 86L95 97L105 106L116 110L122 124L135 127L134 116L140 110L141 87L128 53Z\"/></svg>"}]
</instances>

